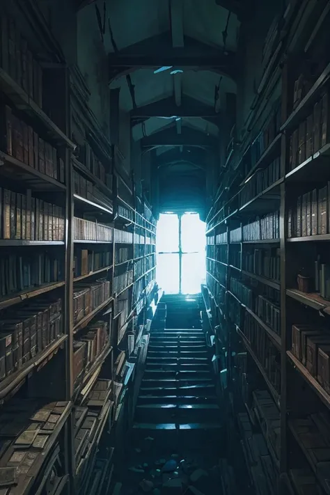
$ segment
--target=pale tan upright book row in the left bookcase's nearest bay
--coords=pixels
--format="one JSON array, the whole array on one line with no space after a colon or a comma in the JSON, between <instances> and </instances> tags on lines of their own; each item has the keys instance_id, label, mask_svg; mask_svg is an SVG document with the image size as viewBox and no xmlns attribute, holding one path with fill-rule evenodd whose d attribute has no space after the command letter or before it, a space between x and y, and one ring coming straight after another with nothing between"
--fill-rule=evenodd
<instances>
[{"instance_id":1,"label":"pale tan upright book row in the left bookcase's nearest bay","mask_svg":"<svg viewBox=\"0 0 330 495\"><path fill-rule=\"evenodd\" d=\"M27 194L0 187L1 239L63 241L64 210Z\"/></svg>"}]
</instances>

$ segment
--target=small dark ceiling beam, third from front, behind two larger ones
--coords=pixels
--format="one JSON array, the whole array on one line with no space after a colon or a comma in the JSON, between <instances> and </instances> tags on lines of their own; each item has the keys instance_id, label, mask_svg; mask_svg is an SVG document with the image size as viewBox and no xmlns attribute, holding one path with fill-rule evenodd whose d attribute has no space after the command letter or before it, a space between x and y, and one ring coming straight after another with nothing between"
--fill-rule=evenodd
<instances>
[{"instance_id":1,"label":"small dark ceiling beam, third from front, behind two larger ones","mask_svg":"<svg viewBox=\"0 0 330 495\"><path fill-rule=\"evenodd\" d=\"M173 128L170 128L151 136L143 137L140 142L143 148L156 146L203 146L208 148L217 146L217 139L214 139L214 137L187 127L182 128L181 134L176 134L175 131L173 132Z\"/></svg>"}]
</instances>

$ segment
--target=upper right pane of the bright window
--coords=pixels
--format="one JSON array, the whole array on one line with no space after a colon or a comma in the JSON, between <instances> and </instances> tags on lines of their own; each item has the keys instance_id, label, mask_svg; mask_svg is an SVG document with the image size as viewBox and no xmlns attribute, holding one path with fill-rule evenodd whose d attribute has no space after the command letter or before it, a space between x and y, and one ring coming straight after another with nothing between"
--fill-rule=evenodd
<instances>
[{"instance_id":1,"label":"upper right pane of the bright window","mask_svg":"<svg viewBox=\"0 0 330 495\"><path fill-rule=\"evenodd\" d=\"M199 219L198 213L185 213L181 219L181 247L182 251L205 252L205 222ZM199 291L198 291L199 292Z\"/></svg>"}]
</instances>

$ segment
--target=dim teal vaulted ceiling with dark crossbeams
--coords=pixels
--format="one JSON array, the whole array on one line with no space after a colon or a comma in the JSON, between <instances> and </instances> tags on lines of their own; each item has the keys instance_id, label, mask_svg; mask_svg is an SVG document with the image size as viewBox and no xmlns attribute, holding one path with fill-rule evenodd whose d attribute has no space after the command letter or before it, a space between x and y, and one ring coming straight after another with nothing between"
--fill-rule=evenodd
<instances>
[{"instance_id":1,"label":"dim teal vaulted ceiling with dark crossbeams","mask_svg":"<svg viewBox=\"0 0 330 495\"><path fill-rule=\"evenodd\" d=\"M199 151L217 149L226 95L236 93L240 5L239 0L104 3L109 87L120 90L119 107L130 113L132 139L143 153L162 156L162 173L184 170L186 177L190 167L194 174L198 159L189 152L200 156Z\"/></svg>"}]
</instances>

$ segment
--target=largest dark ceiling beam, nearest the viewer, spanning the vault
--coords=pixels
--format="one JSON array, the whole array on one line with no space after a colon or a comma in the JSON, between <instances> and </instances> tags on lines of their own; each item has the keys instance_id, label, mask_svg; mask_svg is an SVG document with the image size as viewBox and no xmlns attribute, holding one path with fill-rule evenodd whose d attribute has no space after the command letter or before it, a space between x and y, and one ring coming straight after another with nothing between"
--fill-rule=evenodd
<instances>
[{"instance_id":1,"label":"largest dark ceiling beam, nearest the viewer, spanning the vault","mask_svg":"<svg viewBox=\"0 0 330 495\"><path fill-rule=\"evenodd\" d=\"M171 47L156 36L108 55L109 81L138 69L216 70L235 81L235 53L184 36L184 47ZM155 74L157 77L157 74Z\"/></svg>"}]
</instances>

